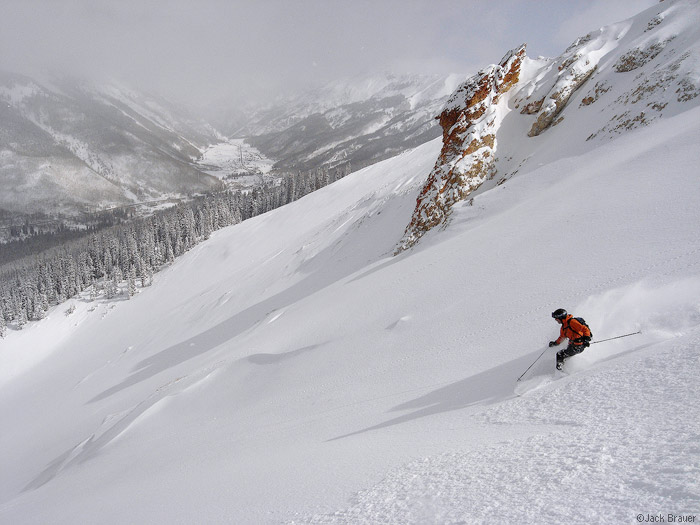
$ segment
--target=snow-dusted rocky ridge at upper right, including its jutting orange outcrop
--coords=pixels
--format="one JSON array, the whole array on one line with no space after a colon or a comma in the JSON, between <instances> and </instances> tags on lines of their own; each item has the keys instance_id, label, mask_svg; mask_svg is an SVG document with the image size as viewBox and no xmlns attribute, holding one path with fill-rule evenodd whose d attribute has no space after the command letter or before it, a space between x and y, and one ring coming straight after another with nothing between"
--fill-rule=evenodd
<instances>
[{"instance_id":1,"label":"snow-dusted rocky ridge at upper right, including its jutting orange outcrop","mask_svg":"<svg viewBox=\"0 0 700 525\"><path fill-rule=\"evenodd\" d=\"M440 114L443 148L400 248L443 224L455 203L527 167L561 125L570 153L597 147L700 104L700 17L664 4L578 38L561 56L532 60L525 46L464 82Z\"/></svg>"}]
</instances>

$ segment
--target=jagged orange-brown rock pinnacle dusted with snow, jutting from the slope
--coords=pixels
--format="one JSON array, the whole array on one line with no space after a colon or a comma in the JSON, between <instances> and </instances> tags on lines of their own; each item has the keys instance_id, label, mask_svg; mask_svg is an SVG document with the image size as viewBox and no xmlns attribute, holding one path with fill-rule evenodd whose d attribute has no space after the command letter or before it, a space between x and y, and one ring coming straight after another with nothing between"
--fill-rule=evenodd
<instances>
[{"instance_id":1,"label":"jagged orange-brown rock pinnacle dusted with snow, jutting from the slope","mask_svg":"<svg viewBox=\"0 0 700 525\"><path fill-rule=\"evenodd\" d=\"M443 146L435 167L416 200L416 208L397 253L443 223L456 202L495 174L496 106L520 78L525 45L510 51L464 82L450 97L438 120Z\"/></svg>"}]
</instances>

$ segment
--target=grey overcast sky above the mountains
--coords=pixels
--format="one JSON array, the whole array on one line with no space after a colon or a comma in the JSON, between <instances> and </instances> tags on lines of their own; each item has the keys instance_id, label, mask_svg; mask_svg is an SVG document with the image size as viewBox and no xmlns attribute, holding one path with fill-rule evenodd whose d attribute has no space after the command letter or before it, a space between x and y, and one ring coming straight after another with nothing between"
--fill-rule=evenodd
<instances>
[{"instance_id":1,"label":"grey overcast sky above the mountains","mask_svg":"<svg viewBox=\"0 0 700 525\"><path fill-rule=\"evenodd\" d=\"M377 71L560 54L656 0L0 0L0 69L112 77L192 103Z\"/></svg>"}]
</instances>

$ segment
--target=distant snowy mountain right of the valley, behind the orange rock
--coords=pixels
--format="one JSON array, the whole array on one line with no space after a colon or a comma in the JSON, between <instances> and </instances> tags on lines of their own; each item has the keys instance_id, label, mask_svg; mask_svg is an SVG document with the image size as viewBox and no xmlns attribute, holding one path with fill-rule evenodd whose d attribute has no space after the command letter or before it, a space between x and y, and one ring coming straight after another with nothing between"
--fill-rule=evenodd
<instances>
[{"instance_id":1,"label":"distant snowy mountain right of the valley, behind the orange rock","mask_svg":"<svg viewBox=\"0 0 700 525\"><path fill-rule=\"evenodd\" d=\"M356 169L437 137L435 115L460 81L384 75L333 82L217 125L247 137L281 170L348 162Z\"/></svg>"}]
</instances>

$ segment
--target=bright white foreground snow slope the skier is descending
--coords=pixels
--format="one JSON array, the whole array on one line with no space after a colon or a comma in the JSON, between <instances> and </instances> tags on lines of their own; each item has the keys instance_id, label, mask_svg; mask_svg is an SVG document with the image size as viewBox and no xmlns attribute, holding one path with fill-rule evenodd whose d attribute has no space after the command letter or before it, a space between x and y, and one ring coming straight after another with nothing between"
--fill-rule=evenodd
<instances>
[{"instance_id":1,"label":"bright white foreground snow slope the skier is descending","mask_svg":"<svg viewBox=\"0 0 700 525\"><path fill-rule=\"evenodd\" d=\"M0 523L700 520L699 16L594 33L669 42L532 136L563 78L523 59L499 176L396 256L442 138L10 330ZM594 344L555 375L560 307Z\"/></svg>"}]
</instances>

